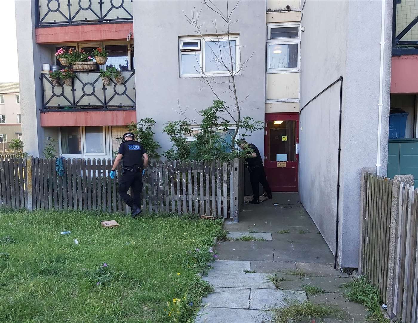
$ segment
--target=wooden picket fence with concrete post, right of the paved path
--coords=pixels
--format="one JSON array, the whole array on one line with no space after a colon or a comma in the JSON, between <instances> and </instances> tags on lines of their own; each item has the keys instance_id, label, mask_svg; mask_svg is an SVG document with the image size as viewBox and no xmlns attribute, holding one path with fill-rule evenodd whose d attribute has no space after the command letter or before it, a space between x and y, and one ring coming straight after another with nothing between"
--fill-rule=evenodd
<instances>
[{"instance_id":1,"label":"wooden picket fence with concrete post, right of the paved path","mask_svg":"<svg viewBox=\"0 0 418 323\"><path fill-rule=\"evenodd\" d=\"M403 177L364 173L359 272L380 291L392 319L418 323L418 189Z\"/></svg>"}]
</instances>

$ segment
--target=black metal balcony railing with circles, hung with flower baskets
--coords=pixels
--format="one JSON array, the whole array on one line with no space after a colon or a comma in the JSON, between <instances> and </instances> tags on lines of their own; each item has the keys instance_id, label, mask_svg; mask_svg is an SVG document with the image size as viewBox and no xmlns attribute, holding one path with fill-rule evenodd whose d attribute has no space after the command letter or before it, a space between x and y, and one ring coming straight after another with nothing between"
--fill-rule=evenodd
<instances>
[{"instance_id":1,"label":"black metal balcony railing with circles, hung with flower baskets","mask_svg":"<svg viewBox=\"0 0 418 323\"><path fill-rule=\"evenodd\" d=\"M100 72L77 72L73 85L53 85L48 74L42 74L43 111L77 109L135 109L135 72L122 72L123 84L110 80L103 85Z\"/></svg>"}]
</instances>

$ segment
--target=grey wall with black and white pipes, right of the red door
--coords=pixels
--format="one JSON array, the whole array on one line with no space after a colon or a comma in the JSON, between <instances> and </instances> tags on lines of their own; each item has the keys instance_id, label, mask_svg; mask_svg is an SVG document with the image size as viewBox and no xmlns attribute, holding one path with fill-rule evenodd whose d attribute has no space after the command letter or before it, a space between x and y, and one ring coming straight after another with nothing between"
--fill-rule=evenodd
<instances>
[{"instance_id":1,"label":"grey wall with black and white pipes, right of the red door","mask_svg":"<svg viewBox=\"0 0 418 323\"><path fill-rule=\"evenodd\" d=\"M377 158L381 5L369 0L307 1L301 21L301 106L344 77L338 251L342 267L357 267L361 169L375 166ZM386 0L381 175L387 169L391 17L392 2ZM338 109L339 83L301 112L299 155L301 202L334 253Z\"/></svg>"}]
</instances>

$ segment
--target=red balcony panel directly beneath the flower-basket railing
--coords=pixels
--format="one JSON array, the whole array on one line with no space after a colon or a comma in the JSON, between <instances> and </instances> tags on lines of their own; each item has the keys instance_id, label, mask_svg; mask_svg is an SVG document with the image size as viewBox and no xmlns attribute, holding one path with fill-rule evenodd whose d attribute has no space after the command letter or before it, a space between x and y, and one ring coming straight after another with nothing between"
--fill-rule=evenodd
<instances>
[{"instance_id":1,"label":"red balcony panel directly beneath the flower-basket railing","mask_svg":"<svg viewBox=\"0 0 418 323\"><path fill-rule=\"evenodd\" d=\"M135 110L43 112L41 127L126 126L136 122Z\"/></svg>"}]
</instances>

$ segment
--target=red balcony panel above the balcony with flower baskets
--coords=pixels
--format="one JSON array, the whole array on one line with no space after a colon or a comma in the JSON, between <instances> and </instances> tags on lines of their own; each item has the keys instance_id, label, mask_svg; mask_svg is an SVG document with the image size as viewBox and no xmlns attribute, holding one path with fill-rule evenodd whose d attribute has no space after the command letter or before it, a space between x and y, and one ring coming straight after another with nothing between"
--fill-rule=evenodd
<instances>
[{"instance_id":1,"label":"red balcony panel above the balcony with flower baskets","mask_svg":"<svg viewBox=\"0 0 418 323\"><path fill-rule=\"evenodd\" d=\"M61 44L79 41L126 40L129 31L133 33L133 23L103 23L36 28L35 35L38 44Z\"/></svg>"}]
</instances>

